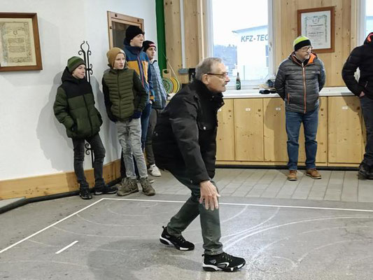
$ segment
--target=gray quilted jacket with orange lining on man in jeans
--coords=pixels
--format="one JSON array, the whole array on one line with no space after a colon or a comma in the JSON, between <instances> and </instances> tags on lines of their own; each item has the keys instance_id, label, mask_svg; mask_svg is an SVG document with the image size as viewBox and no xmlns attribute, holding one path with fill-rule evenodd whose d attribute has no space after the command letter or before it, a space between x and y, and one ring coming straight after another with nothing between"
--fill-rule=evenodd
<instances>
[{"instance_id":1,"label":"gray quilted jacket with orange lining on man in jeans","mask_svg":"<svg viewBox=\"0 0 373 280\"><path fill-rule=\"evenodd\" d=\"M303 63L291 53L279 66L274 87L285 100L286 111L307 113L318 107L318 93L325 85L324 64L311 52Z\"/></svg>"}]
</instances>

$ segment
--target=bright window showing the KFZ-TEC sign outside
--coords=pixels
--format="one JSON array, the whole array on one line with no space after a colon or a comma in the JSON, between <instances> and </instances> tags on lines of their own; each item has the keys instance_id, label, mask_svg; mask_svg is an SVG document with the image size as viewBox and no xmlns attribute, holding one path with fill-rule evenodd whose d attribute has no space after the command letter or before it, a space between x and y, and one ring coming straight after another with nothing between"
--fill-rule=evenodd
<instances>
[{"instance_id":1,"label":"bright window showing the KFZ-TEC sign outside","mask_svg":"<svg viewBox=\"0 0 373 280\"><path fill-rule=\"evenodd\" d=\"M209 56L220 57L234 86L257 87L274 71L272 65L272 0L209 0Z\"/></svg>"}]
</instances>

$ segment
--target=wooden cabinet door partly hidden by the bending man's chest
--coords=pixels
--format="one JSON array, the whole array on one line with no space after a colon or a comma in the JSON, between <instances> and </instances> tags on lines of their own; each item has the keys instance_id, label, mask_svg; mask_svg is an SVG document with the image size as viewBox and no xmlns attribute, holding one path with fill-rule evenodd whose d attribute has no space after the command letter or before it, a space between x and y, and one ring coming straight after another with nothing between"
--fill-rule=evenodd
<instances>
[{"instance_id":1,"label":"wooden cabinet door partly hidden by the bending man's chest","mask_svg":"<svg viewBox=\"0 0 373 280\"><path fill-rule=\"evenodd\" d=\"M218 110L218 135L216 160L234 160L233 99L224 99L225 105Z\"/></svg>"}]
</instances>

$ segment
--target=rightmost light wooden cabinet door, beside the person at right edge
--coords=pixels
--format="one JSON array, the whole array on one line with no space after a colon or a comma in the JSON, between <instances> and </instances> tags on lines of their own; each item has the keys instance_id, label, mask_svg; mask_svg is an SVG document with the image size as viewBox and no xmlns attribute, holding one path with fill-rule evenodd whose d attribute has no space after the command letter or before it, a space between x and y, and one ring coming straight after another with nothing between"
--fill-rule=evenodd
<instances>
[{"instance_id":1,"label":"rightmost light wooden cabinet door, beside the person at right edge","mask_svg":"<svg viewBox=\"0 0 373 280\"><path fill-rule=\"evenodd\" d=\"M363 133L358 97L328 97L328 162L360 163Z\"/></svg>"}]
</instances>

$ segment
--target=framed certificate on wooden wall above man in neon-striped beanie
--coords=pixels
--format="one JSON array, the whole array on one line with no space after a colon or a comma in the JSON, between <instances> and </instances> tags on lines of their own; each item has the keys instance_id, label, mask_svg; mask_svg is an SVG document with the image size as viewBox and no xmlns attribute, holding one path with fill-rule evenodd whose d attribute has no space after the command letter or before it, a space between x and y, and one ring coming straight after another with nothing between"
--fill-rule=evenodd
<instances>
[{"instance_id":1,"label":"framed certificate on wooden wall above man in neon-striped beanie","mask_svg":"<svg viewBox=\"0 0 373 280\"><path fill-rule=\"evenodd\" d=\"M307 36L316 52L335 50L335 7L297 10L298 36Z\"/></svg>"}]
</instances>

